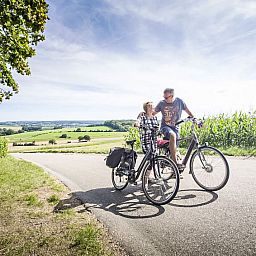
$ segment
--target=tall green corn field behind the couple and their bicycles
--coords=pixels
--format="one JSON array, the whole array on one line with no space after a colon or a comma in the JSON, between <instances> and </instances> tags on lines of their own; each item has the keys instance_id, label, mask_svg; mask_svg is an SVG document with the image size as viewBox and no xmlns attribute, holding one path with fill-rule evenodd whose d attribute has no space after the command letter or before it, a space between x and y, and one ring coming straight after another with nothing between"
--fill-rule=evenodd
<instances>
[{"instance_id":1,"label":"tall green corn field behind the couple and their bicycles","mask_svg":"<svg viewBox=\"0 0 256 256\"><path fill-rule=\"evenodd\" d=\"M200 143L207 142L219 148L239 147L256 148L256 111L254 113L236 112L232 116L221 114L203 119L202 128L196 128ZM180 126L180 137L190 135L191 123ZM140 147L139 133L130 128L125 139L136 139L137 148ZM181 141L180 147L187 147L186 141Z\"/></svg>"}]
</instances>

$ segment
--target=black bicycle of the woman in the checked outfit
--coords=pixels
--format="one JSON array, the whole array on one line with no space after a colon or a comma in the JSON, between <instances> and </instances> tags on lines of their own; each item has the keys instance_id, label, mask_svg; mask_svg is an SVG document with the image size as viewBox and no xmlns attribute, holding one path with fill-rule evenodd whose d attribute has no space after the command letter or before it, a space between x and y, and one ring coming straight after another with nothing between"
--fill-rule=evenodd
<instances>
[{"instance_id":1,"label":"black bicycle of the woman in the checked outfit","mask_svg":"<svg viewBox=\"0 0 256 256\"><path fill-rule=\"evenodd\" d=\"M112 168L112 183L116 190L123 190L127 185L137 185L137 181L141 177L142 190L146 198L155 205L163 205L169 203L179 190L179 170L173 160L158 156L153 151L153 142L151 139L151 147L144 155L139 167L135 169L137 153L134 151L134 143L136 140L126 141L131 146L129 157L121 159L117 167ZM127 151L127 149L125 149ZM163 169L168 168L172 173L167 179L160 174Z\"/></svg>"}]
</instances>

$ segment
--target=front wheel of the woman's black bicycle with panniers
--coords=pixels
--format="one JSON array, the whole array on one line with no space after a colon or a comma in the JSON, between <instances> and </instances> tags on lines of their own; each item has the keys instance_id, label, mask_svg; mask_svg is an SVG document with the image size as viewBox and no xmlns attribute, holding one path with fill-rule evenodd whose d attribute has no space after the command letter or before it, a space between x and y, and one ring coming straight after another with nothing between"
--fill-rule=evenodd
<instances>
[{"instance_id":1,"label":"front wheel of the woman's black bicycle with panniers","mask_svg":"<svg viewBox=\"0 0 256 256\"><path fill-rule=\"evenodd\" d=\"M171 175L163 177L163 173ZM153 163L148 162L142 173L142 189L147 199L156 205L169 203L179 190L179 175L176 164L167 157L158 156Z\"/></svg>"}]
</instances>

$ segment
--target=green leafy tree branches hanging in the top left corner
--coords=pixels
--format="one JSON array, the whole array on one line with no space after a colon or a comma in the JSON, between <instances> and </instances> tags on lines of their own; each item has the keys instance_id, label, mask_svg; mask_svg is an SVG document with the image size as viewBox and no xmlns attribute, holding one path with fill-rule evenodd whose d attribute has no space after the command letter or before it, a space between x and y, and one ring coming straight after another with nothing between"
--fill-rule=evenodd
<instances>
[{"instance_id":1,"label":"green leafy tree branches hanging in the top left corner","mask_svg":"<svg viewBox=\"0 0 256 256\"><path fill-rule=\"evenodd\" d=\"M19 90L13 71L30 75L28 58L45 39L47 13L45 0L0 0L0 102Z\"/></svg>"}]
</instances>

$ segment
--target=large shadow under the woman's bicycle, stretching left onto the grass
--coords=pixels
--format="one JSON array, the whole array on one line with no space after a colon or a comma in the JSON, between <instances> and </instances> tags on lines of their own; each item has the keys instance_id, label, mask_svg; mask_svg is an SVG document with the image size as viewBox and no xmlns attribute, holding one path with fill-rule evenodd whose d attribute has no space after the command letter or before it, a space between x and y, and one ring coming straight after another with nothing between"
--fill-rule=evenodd
<instances>
[{"instance_id":1,"label":"large shadow under the woman's bicycle, stretching left onto the grass","mask_svg":"<svg viewBox=\"0 0 256 256\"><path fill-rule=\"evenodd\" d=\"M165 212L162 206L150 204L144 193L136 186L130 186L124 191L116 191L114 188L97 188L85 192L72 192L70 198L61 200L55 206L54 211L58 212L67 206L77 207L77 199L80 200L80 205L84 204L84 211L103 209L130 219L153 218Z\"/></svg>"}]
</instances>

